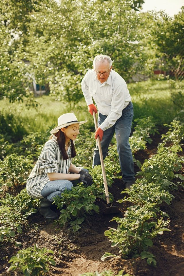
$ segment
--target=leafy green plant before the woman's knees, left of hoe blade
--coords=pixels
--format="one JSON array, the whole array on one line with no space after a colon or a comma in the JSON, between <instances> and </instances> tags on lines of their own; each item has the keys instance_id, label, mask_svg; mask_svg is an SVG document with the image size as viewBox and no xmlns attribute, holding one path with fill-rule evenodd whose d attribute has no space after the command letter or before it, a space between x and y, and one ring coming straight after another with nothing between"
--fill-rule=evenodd
<instances>
[{"instance_id":1,"label":"leafy green plant before the woman's knees, left of hoe blade","mask_svg":"<svg viewBox=\"0 0 184 276\"><path fill-rule=\"evenodd\" d=\"M65 190L62 193L62 198L56 197L54 201L57 209L61 212L59 220L55 221L55 224L63 227L68 222L74 232L78 231L87 214L91 214L92 211L99 212L98 206L94 203L98 194L95 185L88 187L79 185L72 187L71 191ZM66 207L64 208L64 206Z\"/></svg>"}]
</instances>

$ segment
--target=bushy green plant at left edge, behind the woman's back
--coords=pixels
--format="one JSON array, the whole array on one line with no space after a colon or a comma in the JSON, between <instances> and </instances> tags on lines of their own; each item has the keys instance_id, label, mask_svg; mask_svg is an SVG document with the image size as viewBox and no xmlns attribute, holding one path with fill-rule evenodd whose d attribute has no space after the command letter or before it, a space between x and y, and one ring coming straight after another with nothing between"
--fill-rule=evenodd
<instances>
[{"instance_id":1,"label":"bushy green plant at left edge, behind the woman's back","mask_svg":"<svg viewBox=\"0 0 184 276\"><path fill-rule=\"evenodd\" d=\"M9 187L25 183L29 170L32 169L32 156L26 158L21 155L11 154L0 160L0 185Z\"/></svg>"}]
</instances>

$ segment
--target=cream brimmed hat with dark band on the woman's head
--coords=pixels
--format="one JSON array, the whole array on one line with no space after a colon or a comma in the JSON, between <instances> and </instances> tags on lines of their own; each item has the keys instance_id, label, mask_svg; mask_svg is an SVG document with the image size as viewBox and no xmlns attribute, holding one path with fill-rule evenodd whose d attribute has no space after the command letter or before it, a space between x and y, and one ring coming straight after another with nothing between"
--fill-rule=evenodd
<instances>
[{"instance_id":1,"label":"cream brimmed hat with dark band on the woman's head","mask_svg":"<svg viewBox=\"0 0 184 276\"><path fill-rule=\"evenodd\" d=\"M66 114L63 114L61 115L58 119L57 119L57 123L58 123L58 126L55 127L54 129L52 129L50 131L51 134L53 133L56 133L59 131L59 129L62 129L62 127L67 127L67 126L70 126L71 124L84 124L86 123L87 121L80 121L78 122L76 116L74 113L66 113Z\"/></svg>"}]
</instances>

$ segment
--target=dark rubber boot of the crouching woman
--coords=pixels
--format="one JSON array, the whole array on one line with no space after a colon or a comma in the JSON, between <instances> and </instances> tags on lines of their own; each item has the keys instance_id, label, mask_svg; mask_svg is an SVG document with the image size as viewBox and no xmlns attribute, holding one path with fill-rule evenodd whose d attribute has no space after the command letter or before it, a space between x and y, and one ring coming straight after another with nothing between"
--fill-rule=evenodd
<instances>
[{"instance_id":1,"label":"dark rubber boot of the crouching woman","mask_svg":"<svg viewBox=\"0 0 184 276\"><path fill-rule=\"evenodd\" d=\"M58 215L50 209L51 205L52 205L52 202L50 202L46 198L42 198L40 201L38 210L39 210L40 214L42 216L44 216L44 218L56 219L56 218L58 218Z\"/></svg>"}]
</instances>

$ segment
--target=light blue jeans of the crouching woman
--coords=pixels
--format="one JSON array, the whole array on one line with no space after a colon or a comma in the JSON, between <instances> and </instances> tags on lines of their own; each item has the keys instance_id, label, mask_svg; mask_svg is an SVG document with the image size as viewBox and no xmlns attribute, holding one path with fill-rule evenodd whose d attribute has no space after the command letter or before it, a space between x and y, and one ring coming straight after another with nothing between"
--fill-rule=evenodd
<instances>
[{"instance_id":1,"label":"light blue jeans of the crouching woman","mask_svg":"<svg viewBox=\"0 0 184 276\"><path fill-rule=\"evenodd\" d=\"M87 169L83 169L83 170L85 170L86 172L89 172ZM54 202L53 198L55 196L59 196L61 198L61 194L65 191L65 189L69 191L72 189L73 187L72 182L76 182L76 180L69 181L65 179L60 179L60 180L49 181L47 182L47 184L45 184L45 186L41 190L41 196L43 196L43 198L46 198L50 202Z\"/></svg>"}]
</instances>

